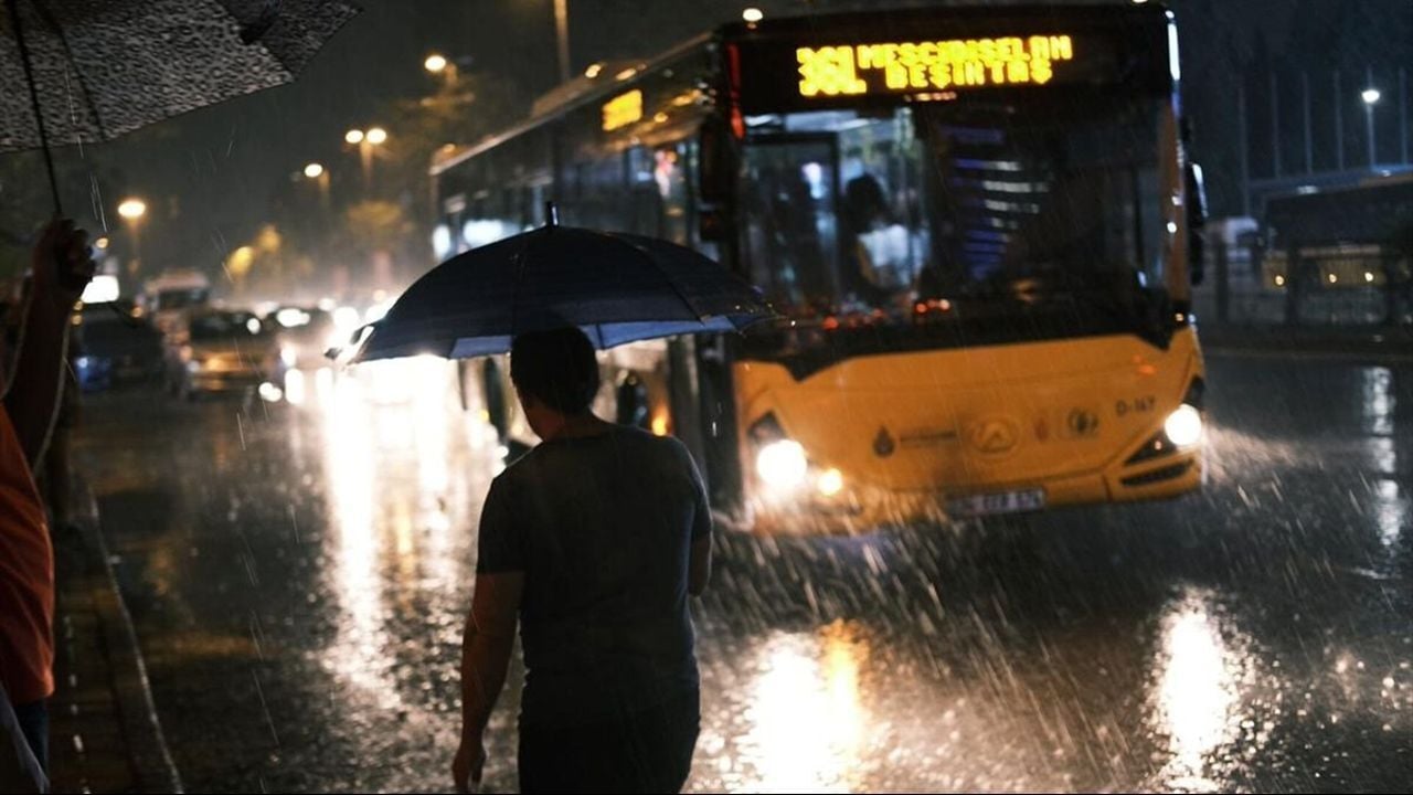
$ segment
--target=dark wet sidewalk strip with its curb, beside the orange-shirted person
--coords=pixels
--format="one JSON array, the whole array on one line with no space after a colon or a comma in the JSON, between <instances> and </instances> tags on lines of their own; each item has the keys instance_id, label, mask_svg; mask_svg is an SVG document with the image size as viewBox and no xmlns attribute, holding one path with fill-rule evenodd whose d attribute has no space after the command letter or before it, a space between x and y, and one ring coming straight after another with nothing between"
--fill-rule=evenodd
<instances>
[{"instance_id":1,"label":"dark wet sidewalk strip with its curb, beside the orange-shirted person","mask_svg":"<svg viewBox=\"0 0 1413 795\"><path fill-rule=\"evenodd\" d=\"M97 505L82 481L75 528L54 536L55 693L49 775L55 792L181 792L131 618L109 563Z\"/></svg>"}]
</instances>

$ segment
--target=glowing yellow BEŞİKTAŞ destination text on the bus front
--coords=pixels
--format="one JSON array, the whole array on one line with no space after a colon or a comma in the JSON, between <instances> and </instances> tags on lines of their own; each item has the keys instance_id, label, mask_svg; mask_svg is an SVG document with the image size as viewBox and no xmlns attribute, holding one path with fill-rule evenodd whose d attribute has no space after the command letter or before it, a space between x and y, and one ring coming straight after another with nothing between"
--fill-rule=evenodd
<instances>
[{"instance_id":1,"label":"glowing yellow BE\u015e\u0130KTA\u015e destination text on the bus front","mask_svg":"<svg viewBox=\"0 0 1413 795\"><path fill-rule=\"evenodd\" d=\"M805 99L1046 85L1075 55L1070 35L796 48Z\"/></svg>"}]
</instances>

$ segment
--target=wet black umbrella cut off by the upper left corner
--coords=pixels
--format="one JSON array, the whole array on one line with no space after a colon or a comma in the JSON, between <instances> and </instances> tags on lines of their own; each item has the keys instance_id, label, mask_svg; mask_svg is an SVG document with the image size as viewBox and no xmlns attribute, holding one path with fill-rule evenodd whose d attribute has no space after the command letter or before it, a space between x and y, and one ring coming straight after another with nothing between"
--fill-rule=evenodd
<instances>
[{"instance_id":1,"label":"wet black umbrella cut off by the upper left corner","mask_svg":"<svg viewBox=\"0 0 1413 795\"><path fill-rule=\"evenodd\" d=\"M284 85L343 23L346 0L6 0L0 151L96 143ZM52 99L51 99L52 98Z\"/></svg>"}]
</instances>

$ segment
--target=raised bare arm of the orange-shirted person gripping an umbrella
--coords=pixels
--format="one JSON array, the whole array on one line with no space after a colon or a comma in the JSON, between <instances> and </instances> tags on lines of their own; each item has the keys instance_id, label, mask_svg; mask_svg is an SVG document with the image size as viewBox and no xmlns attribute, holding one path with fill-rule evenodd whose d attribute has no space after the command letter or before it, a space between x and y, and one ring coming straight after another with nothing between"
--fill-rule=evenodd
<instances>
[{"instance_id":1,"label":"raised bare arm of the orange-shirted person gripping an umbrella","mask_svg":"<svg viewBox=\"0 0 1413 795\"><path fill-rule=\"evenodd\" d=\"M69 317L93 277L88 232L75 229L71 221L49 224L34 248L30 267L32 289L4 403L25 458L37 468L54 424Z\"/></svg>"}]
</instances>

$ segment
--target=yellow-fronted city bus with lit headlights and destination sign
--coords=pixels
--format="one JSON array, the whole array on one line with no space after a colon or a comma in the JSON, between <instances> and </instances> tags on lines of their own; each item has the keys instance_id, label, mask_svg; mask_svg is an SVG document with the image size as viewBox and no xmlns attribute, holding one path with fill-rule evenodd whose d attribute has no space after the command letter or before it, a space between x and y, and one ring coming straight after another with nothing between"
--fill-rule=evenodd
<instances>
[{"instance_id":1,"label":"yellow-fronted city bus with lit headlights and destination sign","mask_svg":"<svg viewBox=\"0 0 1413 795\"><path fill-rule=\"evenodd\" d=\"M701 248L784 320L603 355L762 532L1150 499L1202 480L1201 171L1164 8L726 25L598 64L432 164L442 255L538 222ZM504 366L478 362L516 437Z\"/></svg>"}]
</instances>

